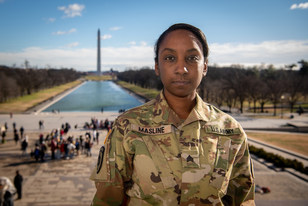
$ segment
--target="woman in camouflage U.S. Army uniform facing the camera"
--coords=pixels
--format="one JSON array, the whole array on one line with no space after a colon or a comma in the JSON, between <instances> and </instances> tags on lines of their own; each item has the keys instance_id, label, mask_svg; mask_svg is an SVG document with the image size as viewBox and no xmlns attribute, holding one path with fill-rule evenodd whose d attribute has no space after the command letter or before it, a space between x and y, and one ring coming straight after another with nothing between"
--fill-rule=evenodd
<instances>
[{"instance_id":1,"label":"woman in camouflage U.S. Army uniform facing the camera","mask_svg":"<svg viewBox=\"0 0 308 206\"><path fill-rule=\"evenodd\" d=\"M92 205L255 205L245 132L196 93L207 71L204 34L174 24L155 54L164 89L115 120L90 177Z\"/></svg>"}]
</instances>

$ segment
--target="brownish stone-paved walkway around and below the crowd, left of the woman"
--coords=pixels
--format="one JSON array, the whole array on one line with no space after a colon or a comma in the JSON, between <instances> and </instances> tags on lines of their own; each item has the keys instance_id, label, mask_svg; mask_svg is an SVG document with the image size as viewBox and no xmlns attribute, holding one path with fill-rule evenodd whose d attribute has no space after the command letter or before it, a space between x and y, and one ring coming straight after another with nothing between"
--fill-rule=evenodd
<instances>
[{"instance_id":1,"label":"brownish stone-paved walkway around and below the crowd, left of the woman","mask_svg":"<svg viewBox=\"0 0 308 206\"><path fill-rule=\"evenodd\" d=\"M99 132L99 140L103 142L107 131L101 130ZM36 141L35 133L30 134L29 145L31 146L28 151ZM39 137L39 133L36 134ZM70 134L79 137L79 135L84 135L85 131L74 131ZM49 151L48 157L43 163L31 161L30 157L22 157L19 145L17 148L10 135L8 135L8 141L0 145L0 166L4 169L1 169L1 176L7 176L13 181L15 171L19 170L24 179L22 199L16 200L15 206L83 206L91 204L96 189L94 182L89 180L89 176L98 158L100 145L93 145L91 157L81 154L68 160L51 160L51 152Z\"/></svg>"}]
</instances>

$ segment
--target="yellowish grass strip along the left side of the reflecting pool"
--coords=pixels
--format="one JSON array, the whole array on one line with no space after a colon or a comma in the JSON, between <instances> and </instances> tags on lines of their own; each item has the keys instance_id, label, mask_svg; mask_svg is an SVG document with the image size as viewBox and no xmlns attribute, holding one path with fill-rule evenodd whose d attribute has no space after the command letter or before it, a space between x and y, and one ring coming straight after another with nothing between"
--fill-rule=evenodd
<instances>
[{"instance_id":1,"label":"yellowish grass strip along the left side of the reflecting pool","mask_svg":"<svg viewBox=\"0 0 308 206\"><path fill-rule=\"evenodd\" d=\"M81 81L74 81L64 85L55 86L51 89L41 90L32 93L31 95L24 95L15 99L10 99L4 103L0 103L0 112L24 112L35 105L50 99L51 97L68 90L74 86L82 83Z\"/></svg>"}]
</instances>

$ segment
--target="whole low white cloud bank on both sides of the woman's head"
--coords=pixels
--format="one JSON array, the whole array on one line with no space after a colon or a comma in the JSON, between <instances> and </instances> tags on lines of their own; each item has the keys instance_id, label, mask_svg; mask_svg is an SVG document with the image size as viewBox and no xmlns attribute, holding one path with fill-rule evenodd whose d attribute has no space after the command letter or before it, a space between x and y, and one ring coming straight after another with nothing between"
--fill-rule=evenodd
<instances>
[{"instance_id":1,"label":"whole low white cloud bank on both sides of the woman's head","mask_svg":"<svg viewBox=\"0 0 308 206\"><path fill-rule=\"evenodd\" d=\"M1 53L2 65L22 64L27 59L31 65L45 68L47 64L53 68L75 68L79 71L95 71L97 48L74 48L77 42L65 48L43 49L38 47L25 48L21 52ZM220 66L240 64L244 66L273 64L280 67L307 60L307 40L264 41L260 43L226 43L209 44L209 65ZM127 67L154 66L152 46L102 47L102 71L111 67L124 71Z\"/></svg>"}]
</instances>

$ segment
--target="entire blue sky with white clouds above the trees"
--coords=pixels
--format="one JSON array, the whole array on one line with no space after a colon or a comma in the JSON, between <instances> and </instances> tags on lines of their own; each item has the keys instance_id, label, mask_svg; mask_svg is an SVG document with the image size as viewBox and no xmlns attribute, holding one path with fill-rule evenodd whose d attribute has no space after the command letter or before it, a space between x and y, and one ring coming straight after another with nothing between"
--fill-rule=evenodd
<instances>
[{"instance_id":1,"label":"entire blue sky with white clouds above the trees","mask_svg":"<svg viewBox=\"0 0 308 206\"><path fill-rule=\"evenodd\" d=\"M154 66L153 44L174 23L199 27L209 65L308 60L308 2L0 0L0 65L102 71Z\"/></svg>"}]
</instances>

